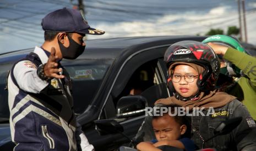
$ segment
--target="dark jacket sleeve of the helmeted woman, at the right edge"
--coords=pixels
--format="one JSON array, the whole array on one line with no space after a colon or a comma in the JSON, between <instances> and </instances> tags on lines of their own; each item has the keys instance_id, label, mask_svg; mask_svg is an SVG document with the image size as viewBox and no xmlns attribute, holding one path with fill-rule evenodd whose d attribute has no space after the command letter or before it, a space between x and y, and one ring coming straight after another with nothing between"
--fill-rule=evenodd
<instances>
[{"instance_id":1,"label":"dark jacket sleeve of the helmeted woman, at the right edge","mask_svg":"<svg viewBox=\"0 0 256 151\"><path fill-rule=\"evenodd\" d=\"M243 118L241 123L232 131L237 150L256 150L256 125L247 108L235 100L230 103L228 109L229 118Z\"/></svg>"}]
</instances>

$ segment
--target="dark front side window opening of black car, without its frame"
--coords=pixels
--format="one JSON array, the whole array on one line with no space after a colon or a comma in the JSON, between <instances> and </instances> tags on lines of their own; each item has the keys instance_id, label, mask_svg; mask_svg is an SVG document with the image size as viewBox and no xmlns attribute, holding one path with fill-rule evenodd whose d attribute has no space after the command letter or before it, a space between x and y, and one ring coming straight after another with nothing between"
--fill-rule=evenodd
<instances>
[{"instance_id":1,"label":"dark front side window opening of black car, without its frame","mask_svg":"<svg viewBox=\"0 0 256 151\"><path fill-rule=\"evenodd\" d=\"M128 83L124 86L121 94L117 97L112 96L107 101L104 108L104 115L101 115L101 118L116 118L116 105L118 100L123 96L144 96L148 101L148 105L152 106L157 98L161 98L158 92L165 89L165 78L160 74L160 70L159 59L151 60L139 66L129 78ZM164 86L161 85L163 83ZM167 93L162 96L168 97Z\"/></svg>"}]
</instances>

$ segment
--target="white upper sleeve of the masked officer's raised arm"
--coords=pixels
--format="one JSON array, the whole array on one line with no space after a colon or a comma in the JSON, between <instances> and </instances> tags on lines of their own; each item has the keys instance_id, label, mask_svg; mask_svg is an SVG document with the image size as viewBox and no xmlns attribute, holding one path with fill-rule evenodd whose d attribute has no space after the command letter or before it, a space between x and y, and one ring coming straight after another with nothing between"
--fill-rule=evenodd
<instances>
[{"instance_id":1,"label":"white upper sleeve of the masked officer's raised arm","mask_svg":"<svg viewBox=\"0 0 256 151\"><path fill-rule=\"evenodd\" d=\"M20 61L13 69L13 75L20 89L38 94L48 83L40 79L36 73L37 67L28 60Z\"/></svg>"}]
</instances>

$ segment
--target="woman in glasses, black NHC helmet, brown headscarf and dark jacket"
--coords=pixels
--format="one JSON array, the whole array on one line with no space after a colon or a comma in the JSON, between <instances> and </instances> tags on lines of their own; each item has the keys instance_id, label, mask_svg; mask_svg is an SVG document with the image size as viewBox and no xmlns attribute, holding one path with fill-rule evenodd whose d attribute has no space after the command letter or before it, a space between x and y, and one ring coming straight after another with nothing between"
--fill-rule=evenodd
<instances>
[{"instance_id":1,"label":"woman in glasses, black NHC helmet, brown headscarf and dark jacket","mask_svg":"<svg viewBox=\"0 0 256 151\"><path fill-rule=\"evenodd\" d=\"M195 41L172 44L165 53L168 68L168 86L172 97L157 100L155 104L178 104L201 109L203 114L192 115L192 140L200 148L214 136L221 121L242 117L241 123L227 135L205 142L206 148L217 150L255 150L256 125L246 107L234 96L215 90L220 73L220 61L207 45ZM209 113L213 109L214 114Z\"/></svg>"}]
</instances>

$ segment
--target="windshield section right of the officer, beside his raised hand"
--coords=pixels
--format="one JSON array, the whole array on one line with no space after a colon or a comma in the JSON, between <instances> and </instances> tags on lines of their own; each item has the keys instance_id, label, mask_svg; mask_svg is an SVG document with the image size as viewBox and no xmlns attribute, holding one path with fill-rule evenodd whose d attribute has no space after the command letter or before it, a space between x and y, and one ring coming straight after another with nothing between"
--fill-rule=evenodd
<instances>
[{"instance_id":1,"label":"windshield section right of the officer, beside his raised hand","mask_svg":"<svg viewBox=\"0 0 256 151\"><path fill-rule=\"evenodd\" d=\"M112 62L112 60L91 59L64 63L73 83L72 94L75 113L83 113L94 99Z\"/></svg>"}]
</instances>

